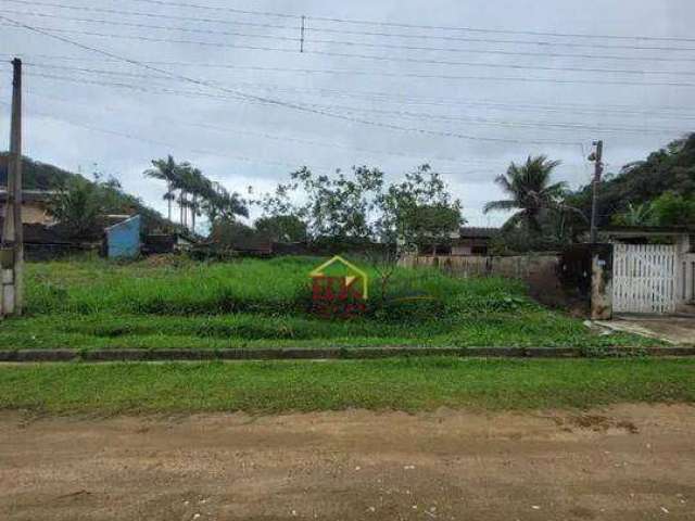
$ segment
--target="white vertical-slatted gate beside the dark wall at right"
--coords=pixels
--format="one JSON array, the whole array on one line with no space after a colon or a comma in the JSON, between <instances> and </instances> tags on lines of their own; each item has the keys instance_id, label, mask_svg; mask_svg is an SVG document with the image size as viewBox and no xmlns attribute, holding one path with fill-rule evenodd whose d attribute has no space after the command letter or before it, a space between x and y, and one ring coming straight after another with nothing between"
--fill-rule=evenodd
<instances>
[{"instance_id":1,"label":"white vertical-slatted gate beside the dark wall at right","mask_svg":"<svg viewBox=\"0 0 695 521\"><path fill-rule=\"evenodd\" d=\"M615 244L612 308L616 313L675 312L675 246Z\"/></svg>"}]
</instances>

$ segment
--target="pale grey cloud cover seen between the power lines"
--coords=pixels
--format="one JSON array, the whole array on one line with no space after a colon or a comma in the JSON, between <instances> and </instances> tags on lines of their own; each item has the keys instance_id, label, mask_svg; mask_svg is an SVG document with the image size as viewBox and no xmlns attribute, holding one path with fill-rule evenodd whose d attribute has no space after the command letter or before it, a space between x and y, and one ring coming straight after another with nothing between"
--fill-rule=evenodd
<instances>
[{"instance_id":1,"label":"pale grey cloud cover seen between the power lines","mask_svg":"<svg viewBox=\"0 0 695 521\"><path fill-rule=\"evenodd\" d=\"M201 0L202 1L202 0ZM65 0L73 5L87 3ZM224 2L208 2L223 5ZM135 0L111 2L94 0L89 5L104 9L147 11L160 14L208 16L245 21L265 18L244 17L215 11L195 11L184 8L165 9ZM236 4L235 4L236 5ZM557 2L553 0L460 2L454 0L393 0L379 2L354 0L352 2L328 3L317 0L289 2L248 2L248 9L261 11L282 11L316 16L362 18L372 21L399 21L407 24L454 25L486 27L493 29L520 29L534 31L594 34L594 35L647 35L686 36L695 15L695 4L687 0L654 2L649 0ZM54 8L31 8L3 2L3 10L42 12L59 15L104 18L94 13L65 11ZM7 13L5 13L7 14ZM263 45L264 40L232 36L181 34L135 27L110 27L40 16L7 14L25 23L72 30L92 30L119 35L205 40L225 45ZM134 16L111 16L112 20L162 24L188 28L232 30L220 24L185 23L182 21L152 20ZM295 25L295 21L273 21L283 25ZM589 60L571 58L505 56L496 54L468 54L444 51L414 51L399 49L362 49L316 45L312 39L326 38L325 34L313 33L321 27L339 27L325 22L312 22L307 33L307 50L364 53L389 56L399 60L425 59L446 60L486 64L509 64L549 67L597 67L631 68L648 71L692 72L693 62L662 62L649 58L691 58L695 52L664 52L636 50L572 49L551 47L553 52L642 56L644 61ZM369 29L369 27L349 26ZM372 28L374 29L374 28ZM396 30L396 29L391 29ZM244 28L244 33L257 35L298 36L296 30ZM424 34L420 29L397 29L401 33ZM66 43L27 33L25 29L0 26L3 55L21 55L27 62L26 85L26 152L41 161L52 162L65 168L88 173L92 164L108 174L116 176L124 187L147 202L164 209L161 200L162 187L156 181L143 179L141 171L150 160L167 153L177 158L200 165L206 174L222 181L231 190L244 191L249 185L269 189L287 174L301 165L318 170L349 168L354 164L380 166L391 178L421 163L430 163L444 173L445 178L468 208L467 217L473 225L498 224L504 215L483 216L481 208L500 193L492 180L504 171L510 161L523 161L531 153L546 153L559 158L564 165L558 168L558 178L573 187L590 179L589 165L583 154L589 152L592 139L606 141L606 157L612 169L629 161L644 157L649 151L677 138L692 127L693 119L662 115L635 115L620 113L620 106L631 111L649 107L688 106L692 104L693 87L645 86L649 81L695 82L692 76L659 74L626 75L615 73L543 72L454 66L441 64L409 63L405 61L376 61L356 58L327 56L299 52L253 51L223 47L201 47L185 43L155 43L137 40L101 38L65 34L80 42L106 49L141 61L200 62L228 64L236 67L290 67L303 69L341 69L391 74L308 74L248 68L199 68L188 66L168 67L178 74L215 81L224 88L242 90L248 93L282 99L291 103L351 105L364 111L417 112L459 120L433 119L431 117L403 117L377 112L351 113L380 124L417 127L441 132L454 132L481 138L504 138L522 141L548 140L570 141L580 145L539 145L523 143L495 143L457 139L454 137L424 135L378 126L364 125L307 114L287 107L249 103L231 99L216 89L188 85L174 79L155 79L156 73L136 66L104 62L94 53L89 53ZM441 33L440 33L441 34ZM451 34L451 33L447 33ZM459 33L466 36L516 38L526 40L560 41L560 38L519 35L484 35ZM465 49L527 50L542 52L548 47L492 45L467 42L442 42L437 40L387 40L378 37L336 35L333 39L383 43L435 47L459 47ZM565 41L599 41L602 43L634 43L634 40L584 40L573 38ZM637 40L640 42L641 40ZM268 43L267 41L265 43ZM660 42L670 45L669 42ZM292 47L294 43L270 42L270 47ZM672 43L685 46L684 43ZM695 48L695 42L686 47ZM72 56L77 60L51 60L40 55ZM109 76L93 73L49 69L37 65L58 65L83 68L111 69L134 76ZM10 68L0 67L0 97L9 101ZM74 80L129 82L138 87L157 91L205 91L208 97L169 96L161 92L142 92L115 86L98 86L64 81L36 76L46 74L64 76ZM520 78L519 81L413 78L408 74L432 76L502 76ZM139 76L148 76L139 77ZM547 82L526 81L528 78L545 78ZM554 80L626 81L633 85L557 84ZM250 85L253 84L253 85ZM380 97L318 96L317 89L331 91L382 92ZM414 100L440 104L413 104ZM459 102L503 103L505 106L458 104ZM690 102L690 103L688 103ZM520 110L521 105L561 105L559 111ZM572 105L572 106L568 106ZM614 112L601 110L615 107ZM8 128L8 110L0 106L1 128ZM591 112L597 109L598 112ZM340 112L340 111L337 111ZM343 112L340 112L343 113ZM691 113L693 114L693 113ZM522 123L536 122L556 124L558 122L596 126L602 128L630 127L639 131L559 129L553 127L518 127L508 125L484 125L475 119ZM467 120L472 119L472 120ZM65 123L71 122L71 124ZM216 129L201 128L199 125L214 125ZM83 128L83 127L89 127ZM655 128L669 131L654 132ZM109 134L116 132L118 135ZM654 132L654 134L653 134ZM128 137L122 136L127 135ZM263 136L266 135L266 136ZM7 132L5 132L7 136ZM271 136L275 139L270 139ZM4 138L3 138L4 139ZM4 142L3 142L4 144ZM583 150L583 151L582 151Z\"/></svg>"}]
</instances>

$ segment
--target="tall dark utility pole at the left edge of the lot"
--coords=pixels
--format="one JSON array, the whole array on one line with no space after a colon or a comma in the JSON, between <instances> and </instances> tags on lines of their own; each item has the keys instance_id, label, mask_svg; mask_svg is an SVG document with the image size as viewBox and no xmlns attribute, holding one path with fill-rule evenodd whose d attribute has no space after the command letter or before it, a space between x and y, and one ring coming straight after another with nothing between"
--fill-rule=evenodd
<instances>
[{"instance_id":1,"label":"tall dark utility pole at the left edge of the lot","mask_svg":"<svg viewBox=\"0 0 695 521\"><path fill-rule=\"evenodd\" d=\"M12 61L12 120L8 161L8 203L0 250L1 315L22 315L24 307L24 230L22 226L22 60Z\"/></svg>"}]
</instances>

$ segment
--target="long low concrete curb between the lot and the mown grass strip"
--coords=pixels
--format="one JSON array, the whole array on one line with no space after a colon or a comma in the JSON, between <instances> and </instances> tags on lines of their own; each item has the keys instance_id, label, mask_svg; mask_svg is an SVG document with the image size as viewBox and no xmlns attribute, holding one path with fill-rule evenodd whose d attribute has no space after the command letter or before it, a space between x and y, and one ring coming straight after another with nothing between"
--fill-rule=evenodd
<instances>
[{"instance_id":1,"label":"long low concrete curb between the lot and the mown grass strip","mask_svg":"<svg viewBox=\"0 0 695 521\"><path fill-rule=\"evenodd\" d=\"M0 351L0 363L106 363L206 360L359 360L396 357L456 356L462 358L589 358L695 357L693 347L609 348L587 355L580 347L356 347L282 350L20 350Z\"/></svg>"}]
</instances>

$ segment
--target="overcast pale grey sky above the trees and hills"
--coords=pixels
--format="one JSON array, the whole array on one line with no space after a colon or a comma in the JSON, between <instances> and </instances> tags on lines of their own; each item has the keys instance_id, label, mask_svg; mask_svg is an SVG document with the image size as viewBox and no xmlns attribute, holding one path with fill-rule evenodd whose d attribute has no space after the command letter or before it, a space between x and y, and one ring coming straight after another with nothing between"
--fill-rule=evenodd
<instances>
[{"instance_id":1,"label":"overcast pale grey sky above the trees and hills","mask_svg":"<svg viewBox=\"0 0 695 521\"><path fill-rule=\"evenodd\" d=\"M695 123L692 0L186 2L265 15L162 3L0 0L0 16L178 76L5 21L0 58L26 63L27 155L85 175L98 165L160 211L164 187L142 170L169 153L239 192L269 190L302 165L379 166L397 179L429 163L463 200L468 221L486 226L505 218L484 216L482 206L500 198L493 179L510 161L561 160L557 179L577 188L591 178L593 140L605 140L608 169L617 170ZM267 13L306 15L306 52L300 20ZM426 47L440 50L414 49ZM7 103L9 63L0 75ZM7 104L0 114L7 148Z\"/></svg>"}]
</instances>

